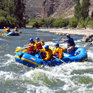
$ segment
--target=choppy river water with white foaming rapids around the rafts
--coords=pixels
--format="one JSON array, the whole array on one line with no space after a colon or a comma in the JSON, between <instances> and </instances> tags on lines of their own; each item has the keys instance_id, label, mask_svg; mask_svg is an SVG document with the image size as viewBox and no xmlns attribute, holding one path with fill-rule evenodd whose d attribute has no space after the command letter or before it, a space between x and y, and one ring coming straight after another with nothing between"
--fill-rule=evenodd
<instances>
[{"instance_id":1,"label":"choppy river water with white foaming rapids around the rafts","mask_svg":"<svg viewBox=\"0 0 93 93\"><path fill-rule=\"evenodd\" d=\"M39 29L20 31L23 32L20 36L0 35L0 93L93 93L93 45L81 42L83 36L71 35L76 46L86 49L88 61L31 68L14 60L15 49L37 36L53 47L60 35ZM60 46L66 47L66 43Z\"/></svg>"}]
</instances>

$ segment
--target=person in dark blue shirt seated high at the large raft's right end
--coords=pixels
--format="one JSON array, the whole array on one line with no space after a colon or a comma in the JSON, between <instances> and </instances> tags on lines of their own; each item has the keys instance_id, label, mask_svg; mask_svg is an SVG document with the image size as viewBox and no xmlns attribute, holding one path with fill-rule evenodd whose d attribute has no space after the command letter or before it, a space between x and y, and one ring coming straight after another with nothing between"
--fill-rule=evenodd
<instances>
[{"instance_id":1,"label":"person in dark blue shirt seated high at the large raft's right end","mask_svg":"<svg viewBox=\"0 0 93 93\"><path fill-rule=\"evenodd\" d=\"M67 52L70 53L72 50L75 49L75 42L74 39L70 37L70 34L66 35L67 39L62 38L62 42L60 43L64 43L67 42Z\"/></svg>"}]
</instances>

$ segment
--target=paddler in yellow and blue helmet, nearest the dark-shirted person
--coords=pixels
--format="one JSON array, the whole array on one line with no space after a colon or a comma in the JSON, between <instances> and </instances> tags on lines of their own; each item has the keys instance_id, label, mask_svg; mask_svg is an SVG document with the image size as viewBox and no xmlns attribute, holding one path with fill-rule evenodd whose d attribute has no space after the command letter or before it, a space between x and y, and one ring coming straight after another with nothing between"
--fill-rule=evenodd
<instances>
[{"instance_id":1,"label":"paddler in yellow and blue helmet, nearest the dark-shirted person","mask_svg":"<svg viewBox=\"0 0 93 93\"><path fill-rule=\"evenodd\" d=\"M53 51L53 56L55 56L55 54L57 55L57 57L59 57L59 59L62 59L63 58L63 51L64 51L64 48L60 47L59 46L59 43L56 43L55 44L55 49Z\"/></svg>"}]
</instances>

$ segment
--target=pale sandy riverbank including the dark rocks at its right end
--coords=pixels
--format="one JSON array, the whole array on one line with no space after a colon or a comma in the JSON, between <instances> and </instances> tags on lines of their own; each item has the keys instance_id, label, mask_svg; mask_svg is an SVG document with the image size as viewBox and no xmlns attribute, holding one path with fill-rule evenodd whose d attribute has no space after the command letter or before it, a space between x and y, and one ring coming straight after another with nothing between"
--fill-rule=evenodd
<instances>
[{"instance_id":1,"label":"pale sandy riverbank including the dark rocks at its right end","mask_svg":"<svg viewBox=\"0 0 93 93\"><path fill-rule=\"evenodd\" d=\"M38 29L39 31L47 31L55 34L77 34L77 35L83 35L82 41L84 42L93 42L93 29L92 28L86 28L86 29L66 29L66 28L41 28Z\"/></svg>"}]
</instances>

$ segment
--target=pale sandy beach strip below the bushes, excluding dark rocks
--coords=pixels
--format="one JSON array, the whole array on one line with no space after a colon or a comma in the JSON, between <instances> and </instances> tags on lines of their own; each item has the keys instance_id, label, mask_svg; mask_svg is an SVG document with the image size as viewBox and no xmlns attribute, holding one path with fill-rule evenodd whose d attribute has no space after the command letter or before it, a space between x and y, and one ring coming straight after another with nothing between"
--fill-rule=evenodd
<instances>
[{"instance_id":1,"label":"pale sandy beach strip below the bushes, excluding dark rocks","mask_svg":"<svg viewBox=\"0 0 93 93\"><path fill-rule=\"evenodd\" d=\"M38 29L40 31L47 31L47 32L52 32L56 34L78 34L78 35L93 35L93 29L92 28L86 28L86 29L62 29L62 28L41 28Z\"/></svg>"}]
</instances>

